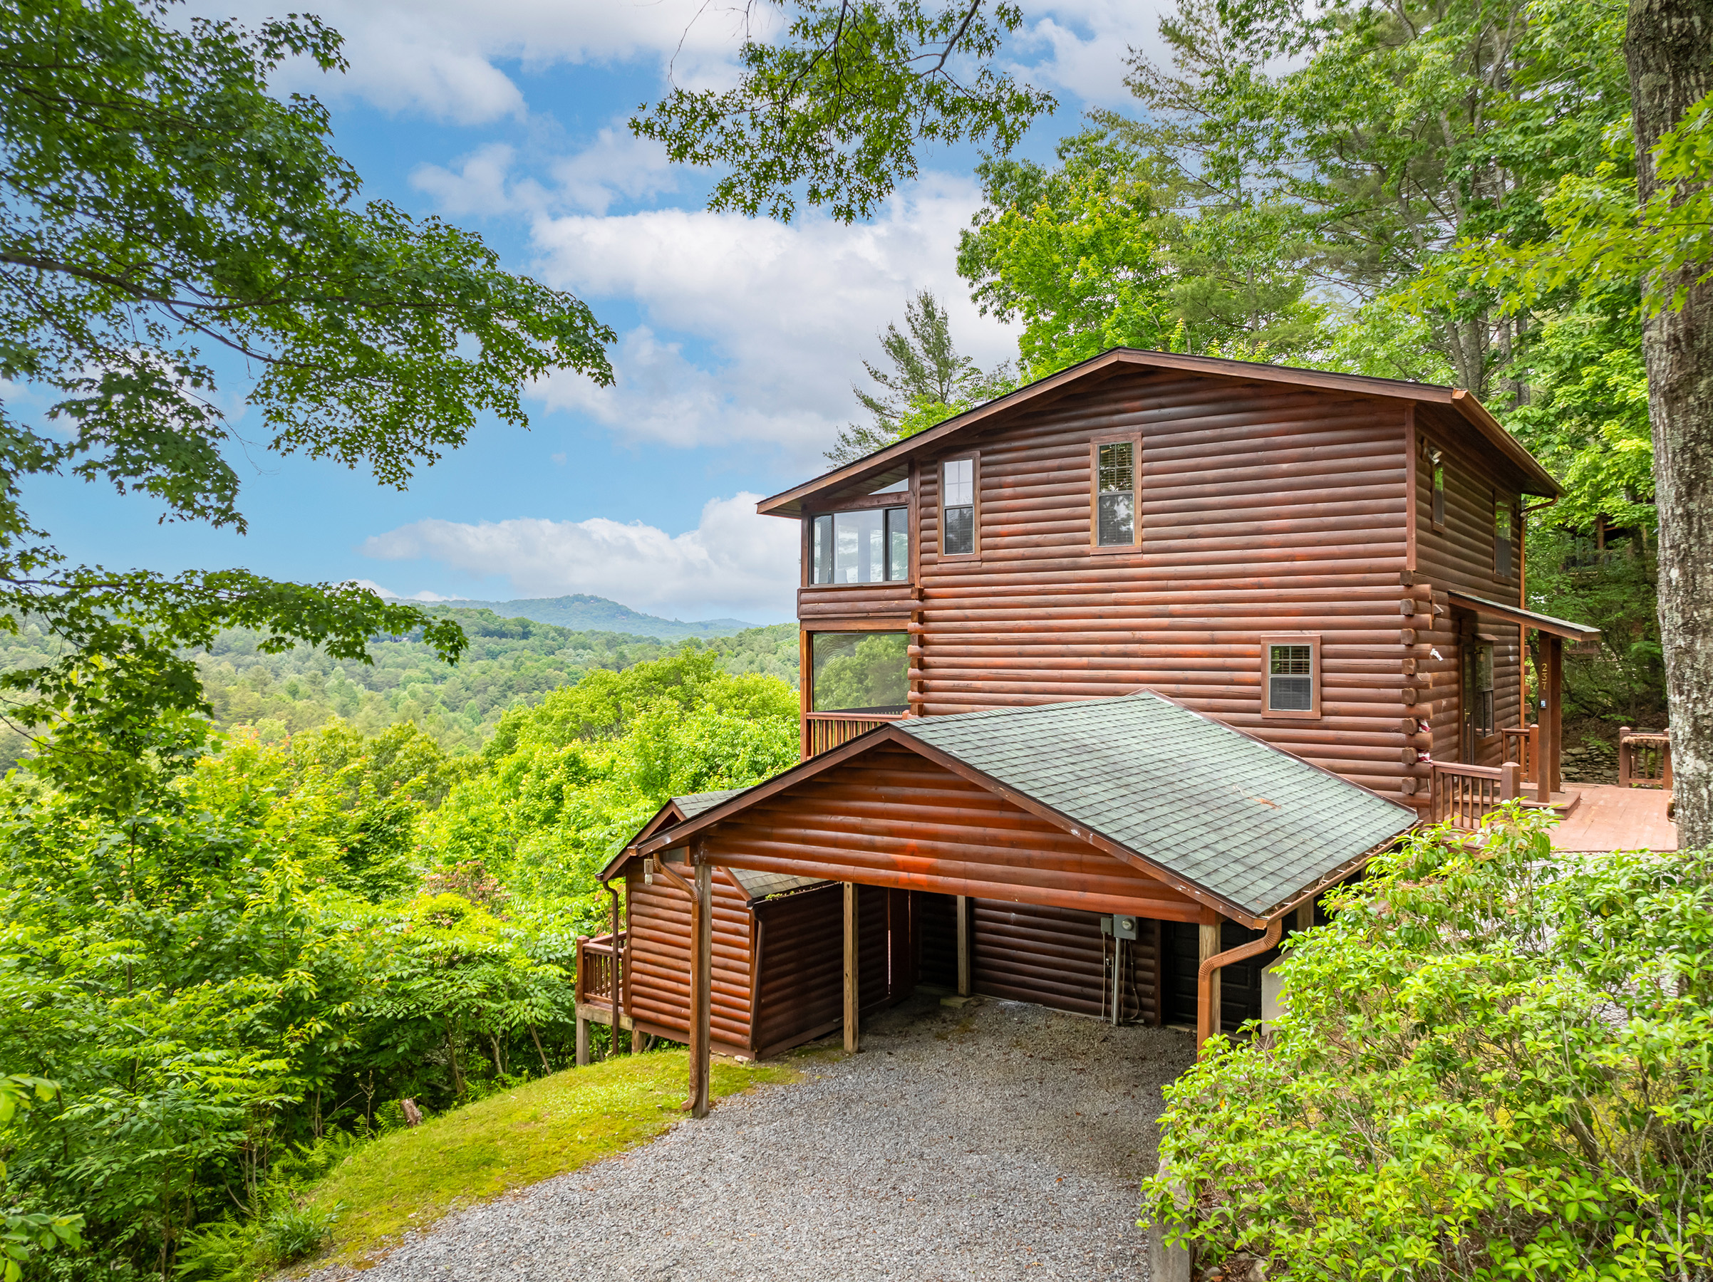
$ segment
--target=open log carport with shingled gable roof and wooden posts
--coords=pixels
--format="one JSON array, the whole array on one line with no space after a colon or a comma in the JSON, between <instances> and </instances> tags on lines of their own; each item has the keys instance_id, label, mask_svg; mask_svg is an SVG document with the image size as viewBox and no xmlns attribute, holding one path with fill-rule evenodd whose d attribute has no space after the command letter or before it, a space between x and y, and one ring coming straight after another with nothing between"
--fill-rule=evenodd
<instances>
[{"instance_id":1,"label":"open log carport with shingled gable roof and wooden posts","mask_svg":"<svg viewBox=\"0 0 1713 1282\"><path fill-rule=\"evenodd\" d=\"M1089 957L1055 935L1072 931L1084 952L1098 948L1103 1006L1115 989L1119 1012L1149 1022L1168 1012L1168 933L1180 945L1194 938L1201 1044L1223 1022L1221 972L1273 950L1321 890L1415 820L1328 770L1137 693L879 726L639 839L625 858L690 900L689 1106L701 1114L716 873L841 887L841 929L826 943L838 948L851 1051L868 1005L863 976L874 974L863 899L879 892L951 909L959 993L1000 938L976 938L983 919L992 935L1011 917L1019 996L1065 981L1077 962L1088 972ZM899 945L884 947L896 976ZM755 1018L766 1018L766 1001Z\"/></svg>"}]
</instances>

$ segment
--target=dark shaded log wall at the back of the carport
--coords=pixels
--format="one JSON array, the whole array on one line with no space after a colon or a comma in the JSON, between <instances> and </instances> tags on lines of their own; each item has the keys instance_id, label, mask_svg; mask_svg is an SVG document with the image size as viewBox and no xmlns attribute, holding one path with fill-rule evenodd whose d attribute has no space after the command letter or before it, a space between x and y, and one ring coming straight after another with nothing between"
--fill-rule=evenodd
<instances>
[{"instance_id":1,"label":"dark shaded log wall at the back of the carport","mask_svg":"<svg viewBox=\"0 0 1713 1282\"><path fill-rule=\"evenodd\" d=\"M1120 1018L1158 1024L1160 933L1158 923L1144 926L1146 938L1125 943ZM1100 914L975 900L973 938L976 993L1110 1018L1113 945Z\"/></svg>"}]
</instances>

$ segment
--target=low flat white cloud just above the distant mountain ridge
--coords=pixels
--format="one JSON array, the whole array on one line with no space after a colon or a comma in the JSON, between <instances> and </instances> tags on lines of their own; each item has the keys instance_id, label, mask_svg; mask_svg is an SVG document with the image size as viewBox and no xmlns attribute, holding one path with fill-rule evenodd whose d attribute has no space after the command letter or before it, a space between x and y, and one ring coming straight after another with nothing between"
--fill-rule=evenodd
<instances>
[{"instance_id":1,"label":"low flat white cloud just above the distant mountain ridge","mask_svg":"<svg viewBox=\"0 0 1713 1282\"><path fill-rule=\"evenodd\" d=\"M500 575L521 597L593 592L678 618L783 618L797 584L798 525L755 515L757 498L711 498L701 524L677 536L605 517L418 520L365 541L363 555Z\"/></svg>"}]
</instances>

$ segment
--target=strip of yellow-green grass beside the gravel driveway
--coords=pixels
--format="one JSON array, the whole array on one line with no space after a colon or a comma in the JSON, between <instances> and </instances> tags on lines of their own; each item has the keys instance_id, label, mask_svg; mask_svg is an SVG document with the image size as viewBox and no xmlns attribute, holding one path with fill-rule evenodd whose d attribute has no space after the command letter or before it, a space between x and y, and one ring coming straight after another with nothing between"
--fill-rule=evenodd
<instances>
[{"instance_id":1,"label":"strip of yellow-green grass beside the gravel driveway","mask_svg":"<svg viewBox=\"0 0 1713 1282\"><path fill-rule=\"evenodd\" d=\"M653 1140L687 1118L685 1051L622 1054L466 1104L415 1130L391 1131L341 1162L312 1195L344 1203L327 1251L361 1265L367 1251L451 1210L576 1171ZM714 1059L713 1099L791 1082L783 1065Z\"/></svg>"}]
</instances>

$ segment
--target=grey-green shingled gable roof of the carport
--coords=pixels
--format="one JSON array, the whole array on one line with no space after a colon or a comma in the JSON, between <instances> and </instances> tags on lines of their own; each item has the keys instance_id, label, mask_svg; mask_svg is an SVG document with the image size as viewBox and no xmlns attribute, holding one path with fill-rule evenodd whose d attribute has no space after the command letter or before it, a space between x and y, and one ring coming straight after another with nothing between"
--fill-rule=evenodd
<instances>
[{"instance_id":1,"label":"grey-green shingled gable roof of the carport","mask_svg":"<svg viewBox=\"0 0 1713 1282\"><path fill-rule=\"evenodd\" d=\"M1240 921L1276 916L1415 825L1413 810L1153 691L911 717L637 842L653 854L898 743Z\"/></svg>"}]
</instances>

